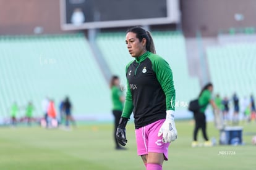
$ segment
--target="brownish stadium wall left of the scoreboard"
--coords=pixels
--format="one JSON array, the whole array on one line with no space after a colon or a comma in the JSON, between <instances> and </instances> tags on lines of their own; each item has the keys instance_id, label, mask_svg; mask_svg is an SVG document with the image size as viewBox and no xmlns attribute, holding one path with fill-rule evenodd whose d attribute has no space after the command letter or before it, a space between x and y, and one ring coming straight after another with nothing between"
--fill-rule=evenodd
<instances>
[{"instance_id":1,"label":"brownish stadium wall left of the scoreboard","mask_svg":"<svg viewBox=\"0 0 256 170\"><path fill-rule=\"evenodd\" d=\"M59 0L0 0L0 34L63 33ZM67 31L66 31L67 32Z\"/></svg>"}]
</instances>

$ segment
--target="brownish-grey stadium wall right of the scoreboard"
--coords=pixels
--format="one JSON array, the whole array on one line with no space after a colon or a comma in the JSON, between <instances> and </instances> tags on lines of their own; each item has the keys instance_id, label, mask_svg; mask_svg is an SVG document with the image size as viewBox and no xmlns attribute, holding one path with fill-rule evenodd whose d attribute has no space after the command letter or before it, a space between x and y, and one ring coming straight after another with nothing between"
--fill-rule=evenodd
<instances>
[{"instance_id":1,"label":"brownish-grey stadium wall right of the scoreboard","mask_svg":"<svg viewBox=\"0 0 256 170\"><path fill-rule=\"evenodd\" d=\"M181 0L182 27L186 36L216 36L231 27L256 27L255 0ZM235 14L244 15L237 21ZM237 16L239 17L239 16Z\"/></svg>"}]
</instances>

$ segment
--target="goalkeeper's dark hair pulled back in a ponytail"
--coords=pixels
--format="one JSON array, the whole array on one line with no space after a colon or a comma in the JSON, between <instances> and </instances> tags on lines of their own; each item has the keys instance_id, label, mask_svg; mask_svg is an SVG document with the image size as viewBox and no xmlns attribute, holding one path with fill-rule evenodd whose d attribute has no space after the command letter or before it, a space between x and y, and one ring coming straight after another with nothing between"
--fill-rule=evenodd
<instances>
[{"instance_id":1,"label":"goalkeeper's dark hair pulled back in a ponytail","mask_svg":"<svg viewBox=\"0 0 256 170\"><path fill-rule=\"evenodd\" d=\"M150 51L153 54L156 54L156 50L155 50L155 45L153 42L153 38L151 36L150 31L146 31L144 28L142 28L141 26L134 26L132 28L129 28L129 30L126 31L126 33L135 33L136 37L139 39L139 41L141 42L143 38L145 38L146 41L146 50Z\"/></svg>"}]
</instances>

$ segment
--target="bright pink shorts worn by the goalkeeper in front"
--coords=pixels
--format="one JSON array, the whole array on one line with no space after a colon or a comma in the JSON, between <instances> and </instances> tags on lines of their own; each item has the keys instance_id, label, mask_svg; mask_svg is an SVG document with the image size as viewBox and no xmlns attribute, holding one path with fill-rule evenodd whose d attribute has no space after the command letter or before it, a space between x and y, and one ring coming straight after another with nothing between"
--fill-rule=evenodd
<instances>
[{"instance_id":1,"label":"bright pink shorts worn by the goalkeeper in front","mask_svg":"<svg viewBox=\"0 0 256 170\"><path fill-rule=\"evenodd\" d=\"M139 156L147 155L148 152L163 153L164 160L168 160L169 143L163 143L162 137L158 137L158 131L165 119L160 119L147 126L135 129L137 153Z\"/></svg>"}]
</instances>

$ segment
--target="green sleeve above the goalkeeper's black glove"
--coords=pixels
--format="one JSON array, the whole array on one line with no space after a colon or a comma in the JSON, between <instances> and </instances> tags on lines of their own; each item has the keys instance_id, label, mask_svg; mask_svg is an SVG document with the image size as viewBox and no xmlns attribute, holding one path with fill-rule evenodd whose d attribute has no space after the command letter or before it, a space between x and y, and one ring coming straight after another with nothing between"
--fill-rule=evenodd
<instances>
[{"instance_id":1,"label":"green sleeve above the goalkeeper's black glove","mask_svg":"<svg viewBox=\"0 0 256 170\"><path fill-rule=\"evenodd\" d=\"M132 62L130 62L126 66L126 73L127 73L128 67L132 64ZM127 81L126 102L124 102L124 110L122 110L122 117L130 118L130 115L132 114L132 110L134 110L134 105L132 103L132 94L130 93L130 86L129 86L128 79L126 79L126 81Z\"/></svg>"}]
</instances>

